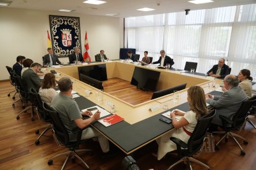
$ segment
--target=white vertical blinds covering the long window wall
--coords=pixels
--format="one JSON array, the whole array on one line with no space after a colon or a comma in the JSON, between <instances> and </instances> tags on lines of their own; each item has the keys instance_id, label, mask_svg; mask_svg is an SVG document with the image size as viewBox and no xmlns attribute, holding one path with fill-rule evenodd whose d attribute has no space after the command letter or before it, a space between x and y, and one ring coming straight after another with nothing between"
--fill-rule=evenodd
<instances>
[{"instance_id":1,"label":"white vertical blinds covering the long window wall","mask_svg":"<svg viewBox=\"0 0 256 170\"><path fill-rule=\"evenodd\" d=\"M198 62L201 73L224 58L232 74L247 68L256 79L256 4L126 18L125 46L153 61L164 49L173 67Z\"/></svg>"}]
</instances>

